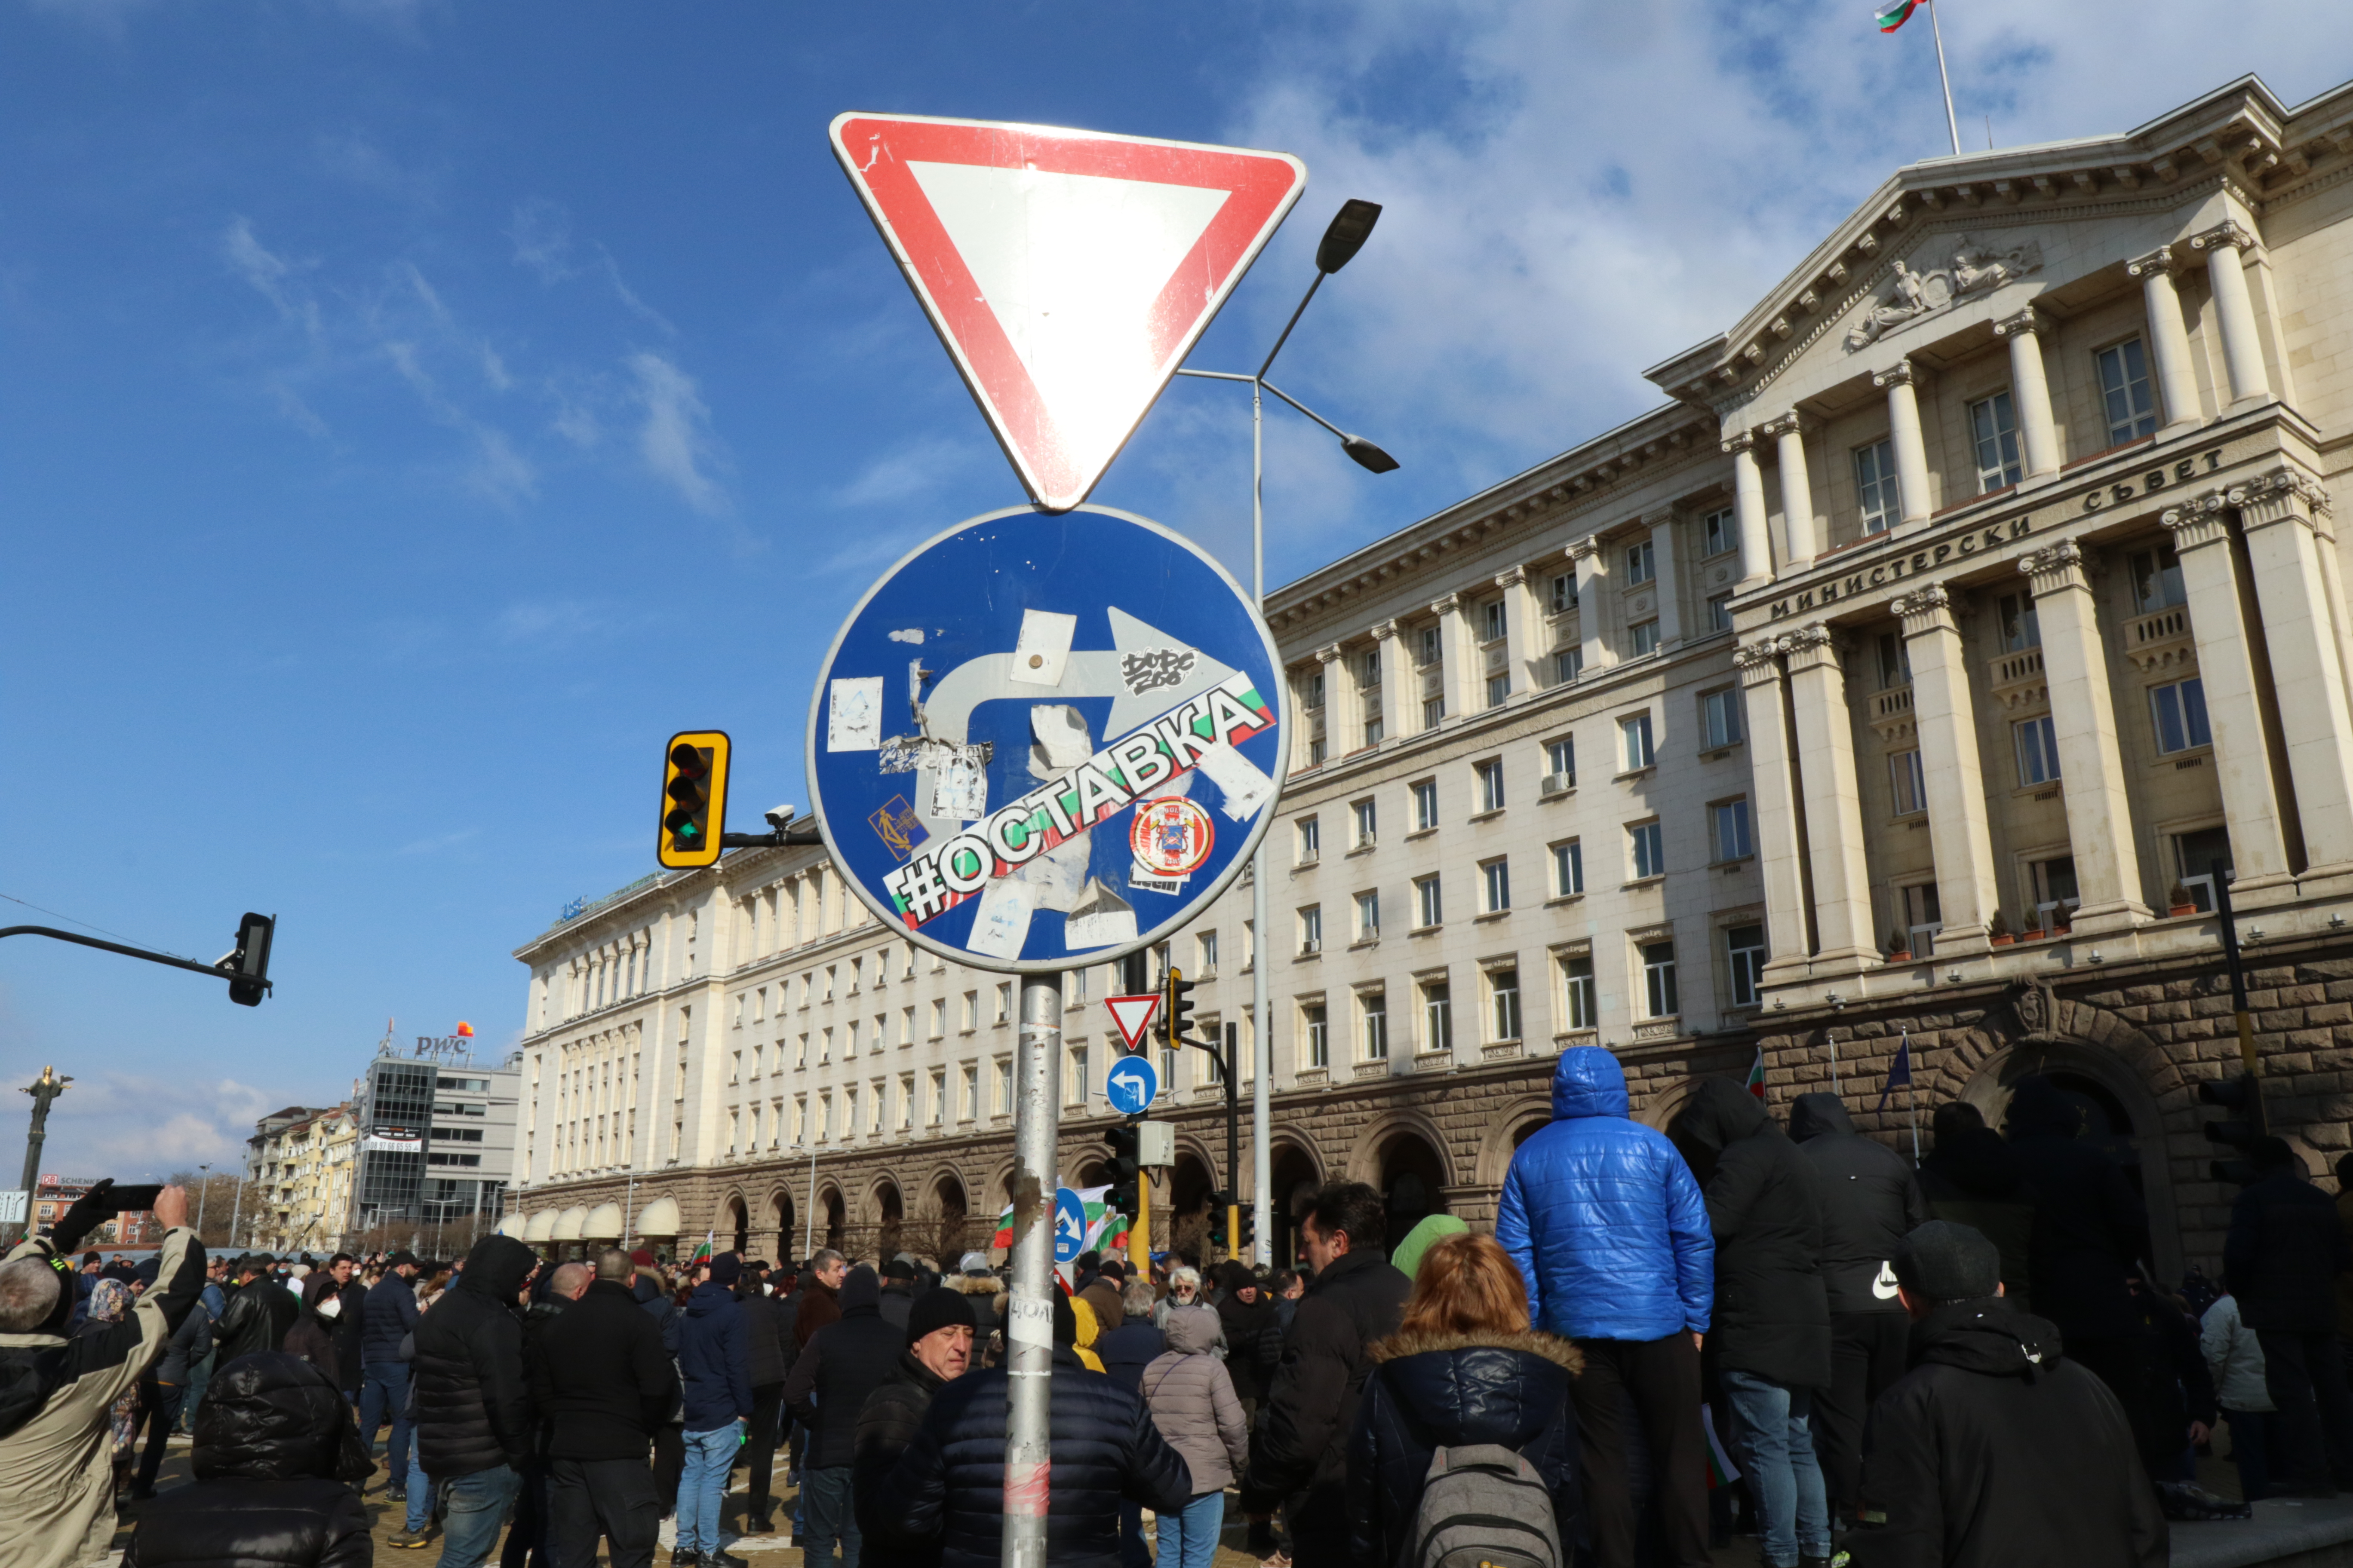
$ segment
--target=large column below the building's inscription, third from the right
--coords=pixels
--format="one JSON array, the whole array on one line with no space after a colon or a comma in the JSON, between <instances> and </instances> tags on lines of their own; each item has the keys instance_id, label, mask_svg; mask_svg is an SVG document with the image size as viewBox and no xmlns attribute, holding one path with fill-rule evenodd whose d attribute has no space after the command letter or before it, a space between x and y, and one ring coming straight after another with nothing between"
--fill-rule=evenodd
<instances>
[{"instance_id":1,"label":"large column below the building's inscription, third from the right","mask_svg":"<svg viewBox=\"0 0 2353 1568\"><path fill-rule=\"evenodd\" d=\"M2042 672L2052 686L2052 729L2059 736L2059 790L2066 837L2075 853L2075 931L2101 936L2148 919L2148 905L2127 884L2132 804L2125 799L2125 757L2115 743L2115 698L2108 691L2108 651L2092 614L2092 583L2082 550L2061 538L2019 562L2033 581L2042 625Z\"/></svg>"}]
</instances>

